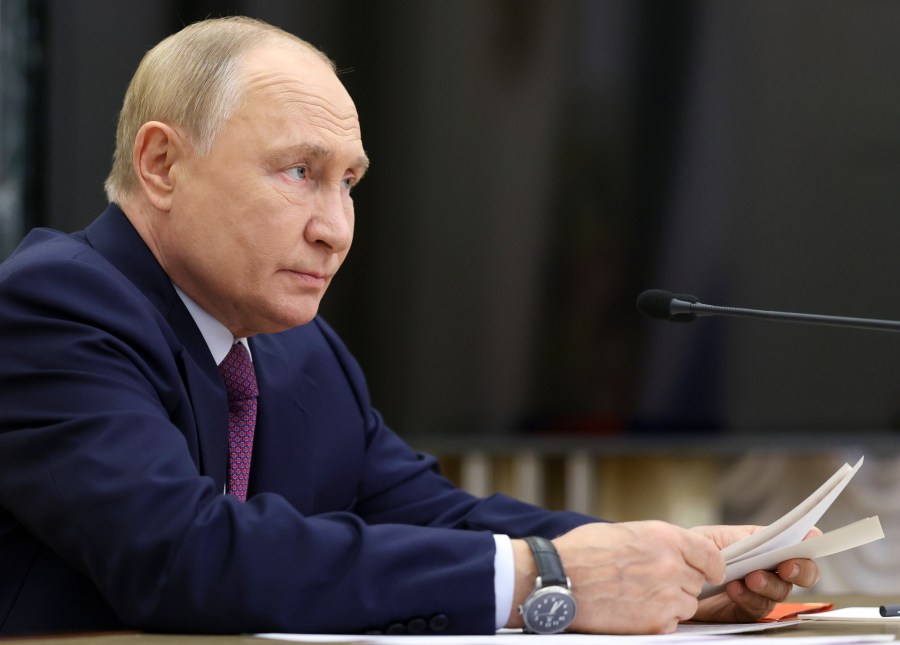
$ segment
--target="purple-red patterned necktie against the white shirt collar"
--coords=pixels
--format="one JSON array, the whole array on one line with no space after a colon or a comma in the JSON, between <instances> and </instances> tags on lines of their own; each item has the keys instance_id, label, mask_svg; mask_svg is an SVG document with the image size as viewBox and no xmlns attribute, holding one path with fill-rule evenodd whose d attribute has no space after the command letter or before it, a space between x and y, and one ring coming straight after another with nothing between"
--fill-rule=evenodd
<instances>
[{"instance_id":1,"label":"purple-red patterned necktie against the white shirt collar","mask_svg":"<svg viewBox=\"0 0 900 645\"><path fill-rule=\"evenodd\" d=\"M231 346L228 356L219 365L228 391L228 487L240 501L247 501L250 481L250 455L253 452L253 431L256 428L256 372L247 349L241 343Z\"/></svg>"}]
</instances>

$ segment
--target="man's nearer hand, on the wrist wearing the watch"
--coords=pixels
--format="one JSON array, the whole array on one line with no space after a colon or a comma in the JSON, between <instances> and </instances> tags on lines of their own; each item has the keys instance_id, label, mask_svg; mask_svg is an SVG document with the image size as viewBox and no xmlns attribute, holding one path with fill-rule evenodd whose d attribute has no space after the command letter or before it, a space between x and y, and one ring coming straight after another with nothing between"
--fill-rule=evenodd
<instances>
[{"instance_id":1,"label":"man's nearer hand, on the wrist wearing the watch","mask_svg":"<svg viewBox=\"0 0 900 645\"><path fill-rule=\"evenodd\" d=\"M725 562L716 544L665 522L587 524L553 540L578 609L570 631L655 634L675 630L697 611L705 582L719 584ZM534 588L528 546L513 541L516 592L510 626Z\"/></svg>"}]
</instances>

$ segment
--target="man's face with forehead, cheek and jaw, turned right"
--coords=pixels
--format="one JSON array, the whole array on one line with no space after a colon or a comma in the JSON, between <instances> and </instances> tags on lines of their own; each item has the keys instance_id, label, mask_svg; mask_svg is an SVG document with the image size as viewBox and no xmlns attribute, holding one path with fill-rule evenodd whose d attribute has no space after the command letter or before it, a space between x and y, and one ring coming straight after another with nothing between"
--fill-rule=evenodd
<instances>
[{"instance_id":1,"label":"man's face with forehead, cheek and jaw, turned right","mask_svg":"<svg viewBox=\"0 0 900 645\"><path fill-rule=\"evenodd\" d=\"M157 229L173 279L235 336L302 325L350 249L359 120L334 72L299 46L247 53L248 91L213 145L175 165Z\"/></svg>"}]
</instances>

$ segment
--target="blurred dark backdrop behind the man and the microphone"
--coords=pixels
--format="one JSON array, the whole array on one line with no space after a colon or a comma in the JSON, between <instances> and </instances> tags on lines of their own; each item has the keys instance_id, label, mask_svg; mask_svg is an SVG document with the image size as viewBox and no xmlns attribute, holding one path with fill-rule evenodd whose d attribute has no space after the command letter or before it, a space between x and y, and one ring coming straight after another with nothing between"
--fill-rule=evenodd
<instances>
[{"instance_id":1,"label":"blurred dark backdrop behind the man and the microphone","mask_svg":"<svg viewBox=\"0 0 900 645\"><path fill-rule=\"evenodd\" d=\"M0 0L0 253L105 206L181 26L323 49L373 161L323 314L401 434L889 432L900 336L642 319L646 288L900 319L900 3Z\"/></svg>"}]
</instances>

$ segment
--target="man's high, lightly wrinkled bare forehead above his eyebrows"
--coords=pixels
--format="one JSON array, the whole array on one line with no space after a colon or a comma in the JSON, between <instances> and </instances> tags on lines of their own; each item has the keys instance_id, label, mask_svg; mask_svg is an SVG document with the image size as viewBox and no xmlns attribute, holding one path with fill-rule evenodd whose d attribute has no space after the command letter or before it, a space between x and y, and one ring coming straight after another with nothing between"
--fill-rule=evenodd
<instances>
[{"instance_id":1,"label":"man's high, lightly wrinkled bare forehead above his eyebrows","mask_svg":"<svg viewBox=\"0 0 900 645\"><path fill-rule=\"evenodd\" d=\"M268 44L241 59L244 99L234 115L255 126L279 124L285 135L305 131L361 146L356 106L331 66L291 42Z\"/></svg>"}]
</instances>

